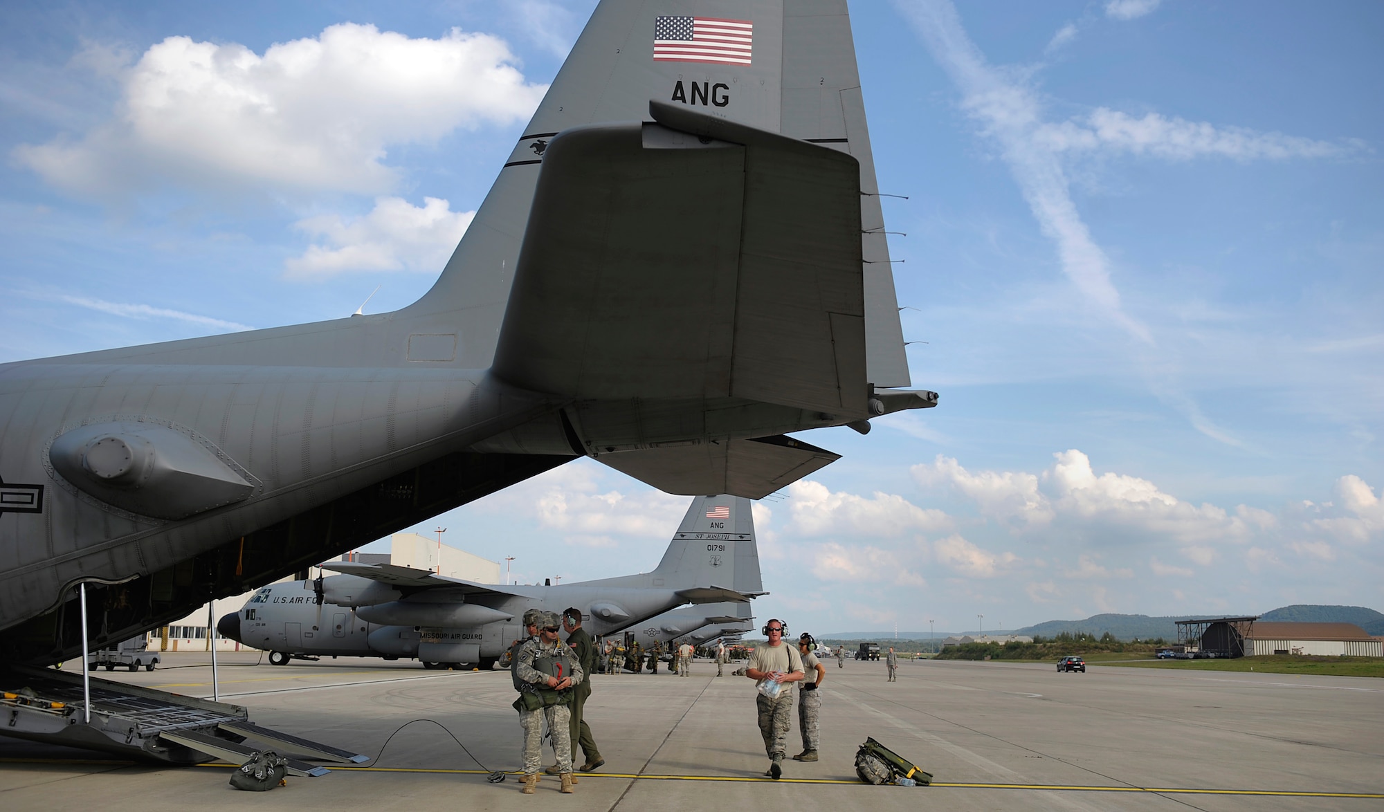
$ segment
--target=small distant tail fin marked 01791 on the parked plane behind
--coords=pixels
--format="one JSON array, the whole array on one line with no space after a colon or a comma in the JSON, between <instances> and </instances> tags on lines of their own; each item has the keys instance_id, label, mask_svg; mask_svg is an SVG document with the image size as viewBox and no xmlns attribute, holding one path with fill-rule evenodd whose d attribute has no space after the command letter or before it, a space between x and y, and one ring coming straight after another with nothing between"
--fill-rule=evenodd
<instances>
[{"instance_id":1,"label":"small distant tail fin marked 01791 on the parked plane behind","mask_svg":"<svg viewBox=\"0 0 1384 812\"><path fill-rule=\"evenodd\" d=\"M714 585L763 592L752 510L753 502L743 497L693 498L655 574L674 589Z\"/></svg>"}]
</instances>

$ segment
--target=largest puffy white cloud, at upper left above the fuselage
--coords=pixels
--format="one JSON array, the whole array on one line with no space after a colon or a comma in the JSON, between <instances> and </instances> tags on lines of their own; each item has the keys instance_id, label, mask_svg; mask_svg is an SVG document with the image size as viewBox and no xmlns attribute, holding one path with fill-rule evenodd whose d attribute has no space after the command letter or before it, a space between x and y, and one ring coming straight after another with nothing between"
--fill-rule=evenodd
<instances>
[{"instance_id":1,"label":"largest puffy white cloud, at upper left above the fuselage","mask_svg":"<svg viewBox=\"0 0 1384 812\"><path fill-rule=\"evenodd\" d=\"M111 120L15 158L95 196L151 181L379 194L397 183L390 147L522 119L545 90L502 40L459 29L426 39L340 24L263 54L173 36L126 71Z\"/></svg>"}]
</instances>

